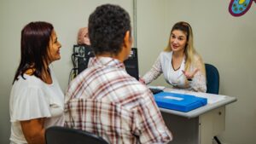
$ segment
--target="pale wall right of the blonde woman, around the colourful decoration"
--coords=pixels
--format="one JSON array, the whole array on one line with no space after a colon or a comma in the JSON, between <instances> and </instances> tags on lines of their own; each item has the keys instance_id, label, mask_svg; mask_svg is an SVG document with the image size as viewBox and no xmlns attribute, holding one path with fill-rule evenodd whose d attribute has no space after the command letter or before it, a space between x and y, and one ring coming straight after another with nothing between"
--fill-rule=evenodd
<instances>
[{"instance_id":1,"label":"pale wall right of the blonde woman, around the colourful decoration","mask_svg":"<svg viewBox=\"0 0 256 144\"><path fill-rule=\"evenodd\" d=\"M236 103L226 109L226 130L219 135L229 144L256 142L256 3L241 17L233 17L228 0L165 1L166 32L179 21L188 21L195 47L207 63L218 67L222 95Z\"/></svg>"}]
</instances>

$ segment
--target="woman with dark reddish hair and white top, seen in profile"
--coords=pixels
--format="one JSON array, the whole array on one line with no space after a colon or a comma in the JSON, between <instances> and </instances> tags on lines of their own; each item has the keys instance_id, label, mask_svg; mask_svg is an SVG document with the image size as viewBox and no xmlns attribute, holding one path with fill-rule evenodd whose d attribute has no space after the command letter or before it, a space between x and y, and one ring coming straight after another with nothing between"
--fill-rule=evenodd
<instances>
[{"instance_id":1,"label":"woman with dark reddish hair and white top, seen in profile","mask_svg":"<svg viewBox=\"0 0 256 144\"><path fill-rule=\"evenodd\" d=\"M64 95L49 65L60 60L61 43L47 22L21 31L21 59L10 93L11 144L44 144L44 131L63 125Z\"/></svg>"}]
</instances>

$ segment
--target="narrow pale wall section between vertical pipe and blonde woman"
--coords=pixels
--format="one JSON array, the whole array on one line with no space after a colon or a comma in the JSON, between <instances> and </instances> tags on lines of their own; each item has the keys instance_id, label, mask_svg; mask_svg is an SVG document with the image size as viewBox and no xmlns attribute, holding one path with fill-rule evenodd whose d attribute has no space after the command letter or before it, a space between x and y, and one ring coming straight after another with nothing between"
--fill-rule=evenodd
<instances>
[{"instance_id":1,"label":"narrow pale wall section between vertical pipe and blonde woman","mask_svg":"<svg viewBox=\"0 0 256 144\"><path fill-rule=\"evenodd\" d=\"M141 76L151 68L167 45L169 30L166 32L165 23L165 1L137 0L137 48ZM162 76L154 84L168 86Z\"/></svg>"}]
</instances>

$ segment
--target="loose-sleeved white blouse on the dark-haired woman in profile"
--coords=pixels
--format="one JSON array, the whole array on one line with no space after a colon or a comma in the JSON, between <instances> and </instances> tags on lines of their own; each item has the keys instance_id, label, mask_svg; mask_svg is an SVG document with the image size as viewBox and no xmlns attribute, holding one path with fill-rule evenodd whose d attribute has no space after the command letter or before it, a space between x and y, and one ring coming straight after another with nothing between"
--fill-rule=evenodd
<instances>
[{"instance_id":1,"label":"loose-sleeved white blouse on the dark-haired woman in profile","mask_svg":"<svg viewBox=\"0 0 256 144\"><path fill-rule=\"evenodd\" d=\"M24 74L15 81L10 93L9 112L11 122L11 144L26 144L20 121L46 118L44 128L64 125L64 95L54 72L52 84L45 84L40 78Z\"/></svg>"}]
</instances>

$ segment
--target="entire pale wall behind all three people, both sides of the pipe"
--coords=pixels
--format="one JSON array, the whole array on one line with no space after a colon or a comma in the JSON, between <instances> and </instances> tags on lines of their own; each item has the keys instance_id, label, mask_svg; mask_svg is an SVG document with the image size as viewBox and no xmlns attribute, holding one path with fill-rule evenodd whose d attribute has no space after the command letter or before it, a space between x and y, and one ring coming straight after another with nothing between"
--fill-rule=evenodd
<instances>
[{"instance_id":1,"label":"entire pale wall behind all three people, both sides of the pipe","mask_svg":"<svg viewBox=\"0 0 256 144\"><path fill-rule=\"evenodd\" d=\"M55 26L62 43L61 60L54 63L61 88L67 88L73 44L79 27L102 3L119 3L132 16L132 0L1 0L0 1L0 143L9 143L9 91L20 60L20 31L32 20ZM229 144L255 143L255 3L247 14L235 18L228 0L137 0L137 48L143 75L166 47L170 30L179 20L188 21L195 47L203 59L218 67L220 94L235 96L226 112L226 130L218 135ZM163 78L153 84L166 85Z\"/></svg>"}]
</instances>

